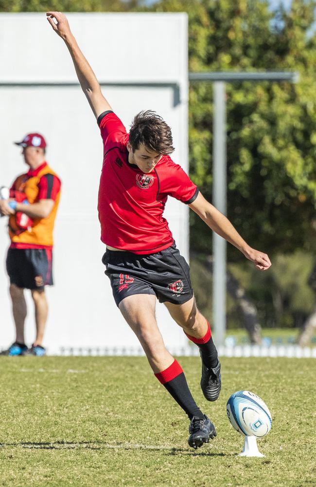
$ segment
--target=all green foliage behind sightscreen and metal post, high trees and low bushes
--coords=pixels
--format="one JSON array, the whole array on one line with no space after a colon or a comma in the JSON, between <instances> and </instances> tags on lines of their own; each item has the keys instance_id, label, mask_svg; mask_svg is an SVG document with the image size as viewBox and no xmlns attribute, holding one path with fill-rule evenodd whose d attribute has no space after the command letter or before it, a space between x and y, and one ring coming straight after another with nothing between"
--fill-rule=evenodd
<instances>
[{"instance_id":1,"label":"all green foliage behind sightscreen and metal post, high trees and low bushes","mask_svg":"<svg viewBox=\"0 0 316 487\"><path fill-rule=\"evenodd\" d=\"M140 0L0 0L1 12L187 12L190 71L299 73L294 85L227 84L228 217L273 258L271 271L258 273L228 246L229 269L256 302L263 326L299 325L315 305L308 285L316 250L315 7L316 0L292 0L289 10L280 1L273 12L268 0L160 0L150 7ZM208 199L212 103L211 83L190 84L190 172ZM209 229L193 212L190 218L191 248L209 254ZM211 285L202 271L193 265L200 294ZM199 296L202 307L209 296L210 289ZM228 324L239 323L228 297Z\"/></svg>"}]
</instances>

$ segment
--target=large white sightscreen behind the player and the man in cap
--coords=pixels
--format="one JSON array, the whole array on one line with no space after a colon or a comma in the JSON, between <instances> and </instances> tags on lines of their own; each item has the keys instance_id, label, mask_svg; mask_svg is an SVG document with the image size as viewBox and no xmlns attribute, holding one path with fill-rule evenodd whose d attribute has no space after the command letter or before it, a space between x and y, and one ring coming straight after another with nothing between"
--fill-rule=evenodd
<instances>
[{"instance_id":1,"label":"large white sightscreen behind the player and the man in cap","mask_svg":"<svg viewBox=\"0 0 316 487\"><path fill-rule=\"evenodd\" d=\"M68 18L103 84L103 93L126 128L135 113L156 110L172 127L174 160L187 170L185 14L69 14ZM27 170L20 149L12 142L32 131L46 137L47 161L63 182L54 232L55 286L47 288L50 313L45 344L51 353L60 347L138 347L104 276L101 258L105 245L100 241L97 216L103 146L88 102L75 85L67 48L42 14L0 14L0 32L0 186L9 186L17 174ZM185 256L187 210L170 198L165 213ZM9 243L5 225L2 218L0 347L14 339L4 270ZM30 344L35 324L29 292L26 295L26 341ZM157 302L157 309L166 344L171 348L185 344L186 337L164 306Z\"/></svg>"}]
</instances>

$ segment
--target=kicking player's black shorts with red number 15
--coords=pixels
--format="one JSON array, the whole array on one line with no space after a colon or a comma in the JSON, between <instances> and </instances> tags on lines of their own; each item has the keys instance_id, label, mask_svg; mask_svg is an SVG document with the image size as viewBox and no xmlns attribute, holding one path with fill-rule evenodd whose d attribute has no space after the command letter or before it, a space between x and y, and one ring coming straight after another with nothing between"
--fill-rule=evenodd
<instances>
[{"instance_id":1,"label":"kicking player's black shorts with red number 15","mask_svg":"<svg viewBox=\"0 0 316 487\"><path fill-rule=\"evenodd\" d=\"M193 297L190 267L175 244L147 255L106 250L102 262L117 306L134 294L152 294L159 302L173 304L183 304Z\"/></svg>"}]
</instances>

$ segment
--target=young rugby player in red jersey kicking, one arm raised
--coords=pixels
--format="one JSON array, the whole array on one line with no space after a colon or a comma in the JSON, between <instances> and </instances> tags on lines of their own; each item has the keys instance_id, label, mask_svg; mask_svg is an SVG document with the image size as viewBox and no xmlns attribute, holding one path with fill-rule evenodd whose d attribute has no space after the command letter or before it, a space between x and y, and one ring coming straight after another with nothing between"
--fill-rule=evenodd
<instances>
[{"instance_id":1,"label":"young rugby player in red jersey kicking, one arm raised","mask_svg":"<svg viewBox=\"0 0 316 487\"><path fill-rule=\"evenodd\" d=\"M97 119L104 145L99 188L103 262L113 296L138 337L154 374L190 418L189 445L200 447L216 436L214 425L196 405L179 363L167 351L155 318L156 298L200 349L201 388L209 401L221 389L220 363L210 325L198 311L189 266L179 254L163 210L168 196L190 206L221 237L235 245L260 270L271 262L252 249L228 219L208 203L170 158L171 130L155 112L135 116L129 134L101 93L66 16L48 12L53 30L65 41L82 90Z\"/></svg>"}]
</instances>

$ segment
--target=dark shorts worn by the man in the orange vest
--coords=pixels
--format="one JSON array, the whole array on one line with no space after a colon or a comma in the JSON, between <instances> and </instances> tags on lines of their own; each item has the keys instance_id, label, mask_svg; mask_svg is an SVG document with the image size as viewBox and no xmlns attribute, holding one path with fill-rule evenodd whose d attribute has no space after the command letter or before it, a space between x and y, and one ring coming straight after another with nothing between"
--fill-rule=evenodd
<instances>
[{"instance_id":1,"label":"dark shorts worn by the man in the orange vest","mask_svg":"<svg viewBox=\"0 0 316 487\"><path fill-rule=\"evenodd\" d=\"M6 268L10 283L20 288L42 290L53 285L53 253L46 248L9 248Z\"/></svg>"}]
</instances>

